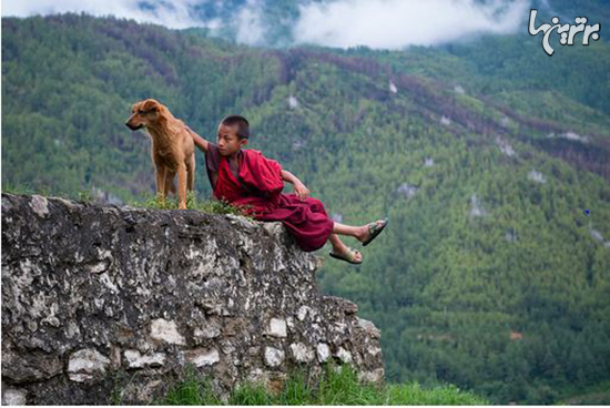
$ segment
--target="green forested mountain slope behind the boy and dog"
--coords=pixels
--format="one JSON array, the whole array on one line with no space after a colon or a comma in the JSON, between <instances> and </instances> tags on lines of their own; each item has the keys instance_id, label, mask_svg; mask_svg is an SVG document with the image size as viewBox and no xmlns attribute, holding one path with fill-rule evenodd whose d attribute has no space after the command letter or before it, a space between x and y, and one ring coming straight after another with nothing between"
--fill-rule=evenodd
<instances>
[{"instance_id":1,"label":"green forested mountain slope behind the boy and dog","mask_svg":"<svg viewBox=\"0 0 610 408\"><path fill-rule=\"evenodd\" d=\"M124 125L133 102L155 98L209 140L244 114L248 147L335 220L389 217L360 266L327 246L318 276L382 329L388 380L548 404L610 378L608 95L603 37L551 59L527 34L256 49L114 18L9 18L2 183L129 201L154 191L150 141ZM197 167L206 197L201 152Z\"/></svg>"}]
</instances>

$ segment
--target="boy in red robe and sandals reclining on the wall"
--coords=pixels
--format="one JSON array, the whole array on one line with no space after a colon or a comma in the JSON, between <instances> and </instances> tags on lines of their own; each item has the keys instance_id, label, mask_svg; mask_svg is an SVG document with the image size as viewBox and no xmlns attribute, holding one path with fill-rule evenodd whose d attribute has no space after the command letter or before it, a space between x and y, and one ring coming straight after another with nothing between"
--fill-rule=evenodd
<instances>
[{"instance_id":1,"label":"boy in red robe and sandals reclining on the wall","mask_svg":"<svg viewBox=\"0 0 610 408\"><path fill-rule=\"evenodd\" d=\"M294 174L257 150L242 150L250 135L248 122L243 116L230 115L221 121L217 144L206 141L191 129L189 132L195 145L205 153L213 196L235 206L244 206L255 220L281 221L305 252L316 251L329 239L333 244L331 256L360 264L360 252L343 244L337 234L354 236L364 246L388 223L387 217L363 226L334 222L322 202L309 197L309 190ZM295 193L282 193L284 181L294 185Z\"/></svg>"}]
</instances>

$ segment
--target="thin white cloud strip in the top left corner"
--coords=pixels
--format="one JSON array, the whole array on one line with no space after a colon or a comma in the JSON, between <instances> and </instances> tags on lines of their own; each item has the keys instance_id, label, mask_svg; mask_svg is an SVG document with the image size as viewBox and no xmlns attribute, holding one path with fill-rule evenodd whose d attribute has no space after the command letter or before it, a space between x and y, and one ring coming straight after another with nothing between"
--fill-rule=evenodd
<instances>
[{"instance_id":1,"label":"thin white cloud strip in the top left corner","mask_svg":"<svg viewBox=\"0 0 610 408\"><path fill-rule=\"evenodd\" d=\"M214 20L202 21L194 14L201 0L134 1L134 0L4 0L2 16L29 17L63 12L85 12L92 16L116 16L139 22L152 22L172 29L210 27Z\"/></svg>"}]
</instances>

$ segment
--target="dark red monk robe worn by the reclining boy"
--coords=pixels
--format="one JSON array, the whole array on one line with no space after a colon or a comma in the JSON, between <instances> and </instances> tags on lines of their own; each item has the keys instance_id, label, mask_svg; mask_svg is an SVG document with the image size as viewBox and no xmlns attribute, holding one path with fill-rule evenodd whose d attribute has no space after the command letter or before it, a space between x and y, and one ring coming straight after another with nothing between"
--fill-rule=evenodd
<instances>
[{"instance_id":1,"label":"dark red monk robe worn by the reclining boy","mask_svg":"<svg viewBox=\"0 0 610 408\"><path fill-rule=\"evenodd\" d=\"M301 200L294 193L282 193L282 165L260 151L240 150L236 161L230 162L216 144L209 142L205 166L214 197L232 205L250 205L246 213L255 220L281 221L303 251L323 247L333 232L334 222L324 204L313 197Z\"/></svg>"}]
</instances>

